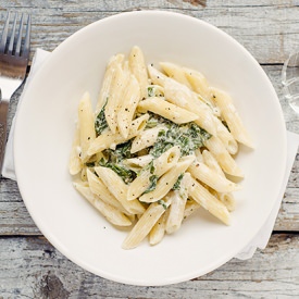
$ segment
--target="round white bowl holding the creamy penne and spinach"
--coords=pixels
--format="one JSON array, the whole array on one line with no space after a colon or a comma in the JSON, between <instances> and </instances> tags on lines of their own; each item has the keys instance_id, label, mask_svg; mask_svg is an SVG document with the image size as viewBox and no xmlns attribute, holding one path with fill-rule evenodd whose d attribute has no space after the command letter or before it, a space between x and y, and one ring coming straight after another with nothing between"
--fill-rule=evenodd
<instances>
[{"instance_id":1,"label":"round white bowl holding the creamy penne and spinach","mask_svg":"<svg viewBox=\"0 0 299 299\"><path fill-rule=\"evenodd\" d=\"M256 149L241 148L246 177L231 226L204 211L154 247L123 250L126 233L111 226L73 188L67 171L76 110L97 94L109 58L139 46L147 62L170 61L202 72L229 92ZM34 76L18 110L14 138L17 183L41 233L65 257L102 277L166 285L203 275L238 253L266 221L286 164L286 129L277 96L258 62L236 40L197 18L170 12L122 13L63 41Z\"/></svg>"}]
</instances>

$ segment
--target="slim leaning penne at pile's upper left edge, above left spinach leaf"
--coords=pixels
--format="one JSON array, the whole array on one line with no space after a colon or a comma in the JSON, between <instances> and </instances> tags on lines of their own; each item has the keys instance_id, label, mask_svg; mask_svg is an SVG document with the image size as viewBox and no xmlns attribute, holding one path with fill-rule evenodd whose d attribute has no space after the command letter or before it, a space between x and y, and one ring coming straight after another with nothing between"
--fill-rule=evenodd
<instances>
[{"instance_id":1,"label":"slim leaning penne at pile's upper left edge, above left spinach leaf","mask_svg":"<svg viewBox=\"0 0 299 299\"><path fill-rule=\"evenodd\" d=\"M115 77L116 67L117 67L117 65L122 64L123 61L124 61L124 54L113 55L111 58L111 60L109 61L105 72L104 72L101 90L99 92L95 115L98 115L98 113L101 111L101 109L108 101L108 99L111 95L111 87L112 87L112 82Z\"/></svg>"}]
</instances>

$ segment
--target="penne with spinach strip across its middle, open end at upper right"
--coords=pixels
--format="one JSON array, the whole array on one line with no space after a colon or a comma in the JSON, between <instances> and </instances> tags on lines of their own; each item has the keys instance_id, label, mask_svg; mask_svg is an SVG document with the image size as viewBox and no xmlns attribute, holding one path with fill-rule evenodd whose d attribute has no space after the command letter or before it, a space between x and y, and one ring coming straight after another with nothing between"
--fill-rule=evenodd
<instances>
[{"instance_id":1,"label":"penne with spinach strip across its middle, open end at upper right","mask_svg":"<svg viewBox=\"0 0 299 299\"><path fill-rule=\"evenodd\" d=\"M145 167L140 174L130 183L127 199L134 200L141 196L151 185L152 177L159 178L165 172L174 167L179 159L178 147L172 147L154 159L152 165Z\"/></svg>"}]
</instances>

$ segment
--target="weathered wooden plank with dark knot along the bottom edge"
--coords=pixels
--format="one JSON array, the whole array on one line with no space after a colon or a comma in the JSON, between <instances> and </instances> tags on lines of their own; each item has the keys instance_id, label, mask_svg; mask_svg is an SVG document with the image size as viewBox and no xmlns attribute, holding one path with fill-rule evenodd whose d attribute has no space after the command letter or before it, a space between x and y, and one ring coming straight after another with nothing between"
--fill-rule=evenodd
<instances>
[{"instance_id":1,"label":"weathered wooden plank with dark knot along the bottom edge","mask_svg":"<svg viewBox=\"0 0 299 299\"><path fill-rule=\"evenodd\" d=\"M274 235L251 260L233 259L202 277L133 287L75 265L45 238L0 239L0 298L298 298L299 236ZM113 261L111 261L113 262Z\"/></svg>"}]
</instances>

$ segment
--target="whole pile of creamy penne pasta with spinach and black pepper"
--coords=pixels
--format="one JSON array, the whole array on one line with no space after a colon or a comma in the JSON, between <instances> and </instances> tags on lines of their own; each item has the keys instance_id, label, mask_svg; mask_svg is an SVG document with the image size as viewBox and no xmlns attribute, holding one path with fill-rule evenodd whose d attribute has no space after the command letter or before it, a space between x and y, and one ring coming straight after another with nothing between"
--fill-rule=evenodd
<instances>
[{"instance_id":1,"label":"whole pile of creamy penne pasta with spinach and black pepper","mask_svg":"<svg viewBox=\"0 0 299 299\"><path fill-rule=\"evenodd\" d=\"M109 61L95 112L85 92L68 160L74 187L115 226L124 249L159 244L203 208L226 225L252 141L231 97L196 70L147 65L141 49ZM199 214L200 215L200 214ZM133 225L134 224L134 225Z\"/></svg>"}]
</instances>

